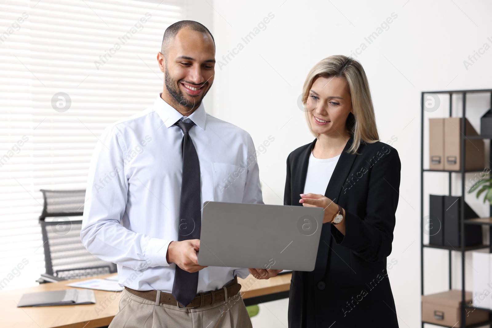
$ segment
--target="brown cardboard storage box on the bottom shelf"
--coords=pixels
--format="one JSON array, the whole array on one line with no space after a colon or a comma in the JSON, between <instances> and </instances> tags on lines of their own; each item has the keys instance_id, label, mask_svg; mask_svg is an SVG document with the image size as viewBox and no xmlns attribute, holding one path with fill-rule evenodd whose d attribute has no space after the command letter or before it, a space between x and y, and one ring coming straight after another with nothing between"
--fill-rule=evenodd
<instances>
[{"instance_id":1,"label":"brown cardboard storage box on the bottom shelf","mask_svg":"<svg viewBox=\"0 0 492 328\"><path fill-rule=\"evenodd\" d=\"M471 305L471 292L465 292L466 305ZM465 309L465 324L474 325L489 320L489 311ZM445 327L461 327L461 291L422 295L422 321Z\"/></svg>"}]
</instances>

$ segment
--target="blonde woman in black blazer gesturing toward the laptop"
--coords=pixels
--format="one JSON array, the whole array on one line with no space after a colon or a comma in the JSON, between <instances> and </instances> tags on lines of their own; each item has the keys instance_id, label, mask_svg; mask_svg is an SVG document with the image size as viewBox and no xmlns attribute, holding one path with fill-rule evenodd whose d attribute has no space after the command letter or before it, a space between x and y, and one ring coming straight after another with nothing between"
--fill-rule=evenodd
<instances>
[{"instance_id":1,"label":"blonde woman in black blazer gesturing toward the laptop","mask_svg":"<svg viewBox=\"0 0 492 328\"><path fill-rule=\"evenodd\" d=\"M289 328L398 327L386 257L400 157L379 142L362 65L341 55L321 60L303 100L316 139L289 154L284 202L325 215L314 271L292 272Z\"/></svg>"}]
</instances>

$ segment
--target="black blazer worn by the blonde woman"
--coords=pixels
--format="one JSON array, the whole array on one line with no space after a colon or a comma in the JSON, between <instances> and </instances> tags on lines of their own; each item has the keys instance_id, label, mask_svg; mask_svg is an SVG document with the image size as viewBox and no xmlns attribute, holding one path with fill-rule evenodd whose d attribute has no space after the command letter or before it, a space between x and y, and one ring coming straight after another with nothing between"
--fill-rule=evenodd
<instances>
[{"instance_id":1,"label":"black blazer worn by the blonde woman","mask_svg":"<svg viewBox=\"0 0 492 328\"><path fill-rule=\"evenodd\" d=\"M345 236L322 226L314 271L293 271L289 328L398 327L387 270L400 188L400 157L382 143L343 149L325 196L345 209ZM299 203L316 139L287 157L284 202ZM307 192L309 192L307 190ZM332 326L330 326L332 325Z\"/></svg>"}]
</instances>

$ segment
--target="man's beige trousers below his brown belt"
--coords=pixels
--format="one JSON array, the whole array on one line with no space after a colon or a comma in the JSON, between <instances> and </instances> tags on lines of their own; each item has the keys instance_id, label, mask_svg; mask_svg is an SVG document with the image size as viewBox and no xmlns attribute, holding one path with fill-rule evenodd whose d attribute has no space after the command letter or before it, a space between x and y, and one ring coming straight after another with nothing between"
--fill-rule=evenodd
<instances>
[{"instance_id":1,"label":"man's beige trousers below his brown belt","mask_svg":"<svg viewBox=\"0 0 492 328\"><path fill-rule=\"evenodd\" d=\"M133 295L126 289L120 312L109 328L252 328L246 306L238 293L226 301L203 307L178 308Z\"/></svg>"}]
</instances>

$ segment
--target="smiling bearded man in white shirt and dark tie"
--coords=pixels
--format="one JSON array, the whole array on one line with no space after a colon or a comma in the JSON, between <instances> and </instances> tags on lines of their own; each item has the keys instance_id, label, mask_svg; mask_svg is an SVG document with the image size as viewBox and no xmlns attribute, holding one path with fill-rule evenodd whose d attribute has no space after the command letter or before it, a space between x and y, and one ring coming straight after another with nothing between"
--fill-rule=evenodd
<instances>
[{"instance_id":1,"label":"smiling bearded man in white shirt and dark tie","mask_svg":"<svg viewBox=\"0 0 492 328\"><path fill-rule=\"evenodd\" d=\"M251 327L237 283L248 269L203 267L197 252L207 246L200 244L204 202L263 204L258 165L248 163L253 142L205 112L215 67L206 27L169 26L157 62L162 93L106 128L90 166L81 239L118 265L125 287L110 327Z\"/></svg>"}]
</instances>

